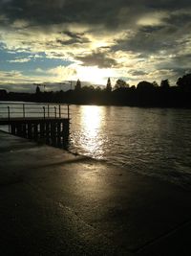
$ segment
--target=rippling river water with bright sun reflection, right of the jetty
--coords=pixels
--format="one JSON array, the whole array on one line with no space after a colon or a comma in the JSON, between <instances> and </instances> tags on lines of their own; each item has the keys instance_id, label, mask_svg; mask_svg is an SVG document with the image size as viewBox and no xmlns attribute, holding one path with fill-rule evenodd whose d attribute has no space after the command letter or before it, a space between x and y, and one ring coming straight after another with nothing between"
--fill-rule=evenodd
<instances>
[{"instance_id":1,"label":"rippling river water with bright sun reflection, right of the jetty","mask_svg":"<svg viewBox=\"0 0 191 256\"><path fill-rule=\"evenodd\" d=\"M69 150L191 188L191 109L71 105Z\"/></svg>"}]
</instances>

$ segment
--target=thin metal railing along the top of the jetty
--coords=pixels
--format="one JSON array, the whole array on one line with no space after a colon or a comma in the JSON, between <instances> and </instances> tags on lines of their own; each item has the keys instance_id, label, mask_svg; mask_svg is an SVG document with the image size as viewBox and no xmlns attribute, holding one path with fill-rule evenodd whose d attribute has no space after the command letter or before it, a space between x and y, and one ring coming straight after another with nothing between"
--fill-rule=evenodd
<instances>
[{"instance_id":1,"label":"thin metal railing along the top of the jetty","mask_svg":"<svg viewBox=\"0 0 191 256\"><path fill-rule=\"evenodd\" d=\"M0 120L29 118L70 119L70 105L45 103L0 103Z\"/></svg>"}]
</instances>

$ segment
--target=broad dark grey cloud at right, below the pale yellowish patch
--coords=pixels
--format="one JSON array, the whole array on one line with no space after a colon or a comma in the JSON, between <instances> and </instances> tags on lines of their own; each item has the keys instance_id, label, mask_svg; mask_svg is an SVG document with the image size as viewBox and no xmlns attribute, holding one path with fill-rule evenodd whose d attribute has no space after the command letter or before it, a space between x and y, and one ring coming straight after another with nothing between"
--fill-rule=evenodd
<instances>
[{"instance_id":1,"label":"broad dark grey cloud at right, below the pale yellowish patch","mask_svg":"<svg viewBox=\"0 0 191 256\"><path fill-rule=\"evenodd\" d=\"M166 56L183 50L190 42L186 35L190 35L191 24L184 20L180 27L173 23L172 17L169 20L171 22L165 25L141 26L134 35L118 39L112 50L132 51L144 57L160 52L164 52Z\"/></svg>"}]
</instances>

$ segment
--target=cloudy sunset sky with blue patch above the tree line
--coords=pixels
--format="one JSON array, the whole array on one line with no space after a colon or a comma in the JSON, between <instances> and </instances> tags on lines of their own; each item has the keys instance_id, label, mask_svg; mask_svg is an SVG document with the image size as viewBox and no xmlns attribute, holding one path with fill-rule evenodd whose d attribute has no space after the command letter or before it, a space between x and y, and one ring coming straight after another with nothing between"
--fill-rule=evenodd
<instances>
[{"instance_id":1,"label":"cloudy sunset sky with blue patch above the tree line","mask_svg":"<svg viewBox=\"0 0 191 256\"><path fill-rule=\"evenodd\" d=\"M191 72L190 28L190 0L0 0L0 84L174 85Z\"/></svg>"}]
</instances>

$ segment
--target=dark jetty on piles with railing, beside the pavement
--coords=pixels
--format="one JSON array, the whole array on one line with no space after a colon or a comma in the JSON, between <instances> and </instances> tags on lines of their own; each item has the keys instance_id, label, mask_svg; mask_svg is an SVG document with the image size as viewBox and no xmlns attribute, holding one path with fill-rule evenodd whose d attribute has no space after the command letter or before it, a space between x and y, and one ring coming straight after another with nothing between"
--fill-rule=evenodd
<instances>
[{"instance_id":1,"label":"dark jetty on piles with railing, beside the pavement","mask_svg":"<svg viewBox=\"0 0 191 256\"><path fill-rule=\"evenodd\" d=\"M57 147L68 144L70 105L0 103L0 126L11 134Z\"/></svg>"}]
</instances>

